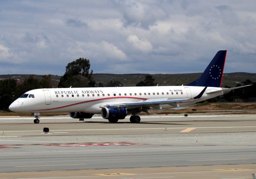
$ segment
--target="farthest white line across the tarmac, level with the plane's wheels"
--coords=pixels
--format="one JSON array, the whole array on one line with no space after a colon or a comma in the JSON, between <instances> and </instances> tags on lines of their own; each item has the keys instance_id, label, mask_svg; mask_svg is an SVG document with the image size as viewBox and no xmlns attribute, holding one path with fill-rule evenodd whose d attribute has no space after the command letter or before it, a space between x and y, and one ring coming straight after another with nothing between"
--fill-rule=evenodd
<instances>
[{"instance_id":1,"label":"farthest white line across the tarmac, level with the plane's wheels","mask_svg":"<svg viewBox=\"0 0 256 179\"><path fill-rule=\"evenodd\" d=\"M140 116L140 118L205 118L205 117L256 117L256 115L198 115L192 116L188 115L188 117L184 116ZM126 116L126 118L130 118L130 116ZM13 119L34 119L30 118L0 118L0 120L13 120ZM40 118L42 119L73 119L71 117L49 117L49 118ZM92 117L92 119L103 119L101 116Z\"/></svg>"}]
</instances>

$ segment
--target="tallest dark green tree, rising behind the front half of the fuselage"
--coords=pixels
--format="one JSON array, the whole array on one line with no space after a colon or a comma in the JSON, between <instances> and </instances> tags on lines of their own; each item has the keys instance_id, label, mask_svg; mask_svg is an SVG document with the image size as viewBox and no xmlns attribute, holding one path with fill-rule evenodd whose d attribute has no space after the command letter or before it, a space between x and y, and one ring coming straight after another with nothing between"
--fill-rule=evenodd
<instances>
[{"instance_id":1,"label":"tallest dark green tree, rising behind the front half of the fuselage","mask_svg":"<svg viewBox=\"0 0 256 179\"><path fill-rule=\"evenodd\" d=\"M79 58L68 63L66 72L61 77L58 87L95 87L95 81L92 76L93 71L89 72L89 69L90 61L88 59Z\"/></svg>"}]
</instances>

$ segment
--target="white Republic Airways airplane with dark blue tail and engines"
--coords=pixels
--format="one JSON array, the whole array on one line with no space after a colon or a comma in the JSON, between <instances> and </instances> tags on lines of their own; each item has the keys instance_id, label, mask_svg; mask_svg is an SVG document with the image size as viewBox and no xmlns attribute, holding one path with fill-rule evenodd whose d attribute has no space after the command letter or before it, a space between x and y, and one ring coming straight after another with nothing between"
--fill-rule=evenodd
<instances>
[{"instance_id":1,"label":"white Republic Airways airplane with dark blue tail and engines","mask_svg":"<svg viewBox=\"0 0 256 179\"><path fill-rule=\"evenodd\" d=\"M80 120L101 114L111 123L131 114L130 122L139 123L142 111L188 106L250 86L221 88L226 54L218 51L200 78L186 86L34 89L12 102L9 110L34 113L35 124L45 112L69 112Z\"/></svg>"}]
</instances>

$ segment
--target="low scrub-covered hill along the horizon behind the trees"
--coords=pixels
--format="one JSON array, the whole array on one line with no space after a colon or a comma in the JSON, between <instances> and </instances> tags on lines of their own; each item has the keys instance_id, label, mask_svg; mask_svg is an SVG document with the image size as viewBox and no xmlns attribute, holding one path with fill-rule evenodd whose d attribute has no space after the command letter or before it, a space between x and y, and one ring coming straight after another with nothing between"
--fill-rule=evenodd
<instances>
[{"instance_id":1,"label":"low scrub-covered hill along the horizon behind the trees","mask_svg":"<svg viewBox=\"0 0 256 179\"><path fill-rule=\"evenodd\" d=\"M186 85L198 79L202 73L185 73L185 74L154 74L152 75L156 83L161 86L172 85ZM110 80L120 81L124 87L136 86L136 84L145 79L145 76L149 74L104 74L95 73L93 77L96 83L108 83ZM3 79L16 79L19 82L23 82L25 78L30 75L0 75L0 80ZM61 76L51 75L52 83L54 87L57 87ZM42 75L34 75L34 77L40 79ZM256 73L224 73L222 87L225 85L235 87L238 83L242 83L250 79L252 82L256 82Z\"/></svg>"}]
</instances>

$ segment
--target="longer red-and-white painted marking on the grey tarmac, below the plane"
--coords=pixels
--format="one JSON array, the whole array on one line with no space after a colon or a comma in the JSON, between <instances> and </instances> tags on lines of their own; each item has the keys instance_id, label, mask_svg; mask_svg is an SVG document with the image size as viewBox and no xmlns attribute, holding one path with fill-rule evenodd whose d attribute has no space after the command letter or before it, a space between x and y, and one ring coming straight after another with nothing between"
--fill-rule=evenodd
<instances>
[{"instance_id":1,"label":"longer red-and-white painted marking on the grey tarmac, below the plane","mask_svg":"<svg viewBox=\"0 0 256 179\"><path fill-rule=\"evenodd\" d=\"M62 147L82 147L82 146L131 146L131 145L144 145L136 143L84 143L84 144L47 144L46 146L62 146Z\"/></svg>"}]
</instances>

